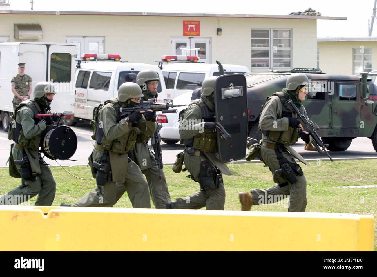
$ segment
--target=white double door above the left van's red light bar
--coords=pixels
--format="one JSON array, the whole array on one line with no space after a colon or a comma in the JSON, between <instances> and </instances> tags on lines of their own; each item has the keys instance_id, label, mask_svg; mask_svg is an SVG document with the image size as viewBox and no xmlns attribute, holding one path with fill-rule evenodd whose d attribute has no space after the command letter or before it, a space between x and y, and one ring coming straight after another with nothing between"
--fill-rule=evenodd
<instances>
[{"instance_id":1,"label":"white double door above the left van's red light bar","mask_svg":"<svg viewBox=\"0 0 377 277\"><path fill-rule=\"evenodd\" d=\"M100 54L104 52L104 37L67 37L67 43L76 46L76 55L79 59L81 54Z\"/></svg>"}]
</instances>

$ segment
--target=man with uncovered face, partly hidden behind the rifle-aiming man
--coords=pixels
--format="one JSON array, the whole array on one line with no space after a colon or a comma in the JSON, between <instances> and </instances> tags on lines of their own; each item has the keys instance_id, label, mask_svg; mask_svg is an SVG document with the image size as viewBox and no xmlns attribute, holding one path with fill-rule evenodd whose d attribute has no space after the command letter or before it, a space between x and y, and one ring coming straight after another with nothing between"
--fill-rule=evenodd
<instances>
[{"instance_id":1,"label":"man with uncovered face, partly hidden behind the rifle-aiming man","mask_svg":"<svg viewBox=\"0 0 377 277\"><path fill-rule=\"evenodd\" d=\"M158 98L157 87L159 81L160 78L155 70L143 69L138 73L136 83L143 91L143 99L141 101ZM155 116L156 115L153 115L152 121L156 121ZM161 170L160 180L159 166L156 164L155 155L151 153L147 145L149 136L140 133L138 130L136 135L137 141L135 148L129 152L129 157L140 167L141 171L146 176L153 205L155 205L156 208L166 208L166 203L171 200L164 171ZM121 183L117 183L116 187L116 201L118 201L123 195L125 188Z\"/></svg>"}]
</instances>

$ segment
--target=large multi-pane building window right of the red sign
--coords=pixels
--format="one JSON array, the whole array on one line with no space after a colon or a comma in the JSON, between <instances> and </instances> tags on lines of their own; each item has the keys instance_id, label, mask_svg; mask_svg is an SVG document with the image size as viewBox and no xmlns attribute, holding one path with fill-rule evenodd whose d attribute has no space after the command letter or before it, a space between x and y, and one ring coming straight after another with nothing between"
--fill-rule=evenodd
<instances>
[{"instance_id":1,"label":"large multi-pane building window right of the red sign","mask_svg":"<svg viewBox=\"0 0 377 277\"><path fill-rule=\"evenodd\" d=\"M291 68L291 32L251 29L251 68Z\"/></svg>"}]
</instances>

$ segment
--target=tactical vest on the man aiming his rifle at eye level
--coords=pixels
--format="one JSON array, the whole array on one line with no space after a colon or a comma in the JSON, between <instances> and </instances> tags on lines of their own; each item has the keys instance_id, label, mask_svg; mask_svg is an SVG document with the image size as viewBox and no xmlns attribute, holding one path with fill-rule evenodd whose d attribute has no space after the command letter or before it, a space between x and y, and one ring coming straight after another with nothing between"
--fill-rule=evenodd
<instances>
[{"instance_id":1,"label":"tactical vest on the man aiming his rifle at eye level","mask_svg":"<svg viewBox=\"0 0 377 277\"><path fill-rule=\"evenodd\" d=\"M119 104L118 99L112 98L112 99L106 100L103 106L99 106L97 108L97 111L96 111L97 116L93 120L94 123L92 122L93 127L94 127L94 124L96 124L95 128L93 128L94 132L93 132L92 138L94 137L95 140L97 141L97 144L101 145L101 147L105 149L111 150L112 152L115 152L115 153L125 154L128 151L132 150L133 147L135 147L135 143L136 143L135 127L130 128L130 132L128 136L123 135L112 141L107 139L103 133L103 126L101 124L98 124L98 116L100 114L100 110L103 109L103 107L107 103L111 103L115 108L116 123L118 123L122 119L121 113L120 113L121 105Z\"/></svg>"}]
</instances>

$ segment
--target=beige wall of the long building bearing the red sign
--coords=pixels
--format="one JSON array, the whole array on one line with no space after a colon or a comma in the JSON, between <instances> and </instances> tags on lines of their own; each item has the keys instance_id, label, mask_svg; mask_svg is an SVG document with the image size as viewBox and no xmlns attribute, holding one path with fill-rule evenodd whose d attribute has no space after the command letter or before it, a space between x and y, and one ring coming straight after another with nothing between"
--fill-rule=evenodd
<instances>
[{"instance_id":1,"label":"beige wall of the long building bearing the red sign","mask_svg":"<svg viewBox=\"0 0 377 277\"><path fill-rule=\"evenodd\" d=\"M30 15L1 14L0 37L14 38L14 23L38 23L42 40L65 43L66 37L104 37L104 53L122 60L155 64L172 52L172 37L183 37L183 20L200 20L201 37L211 39L211 63L251 67L251 28L292 30L292 67L316 67L316 19L181 17L130 15ZM222 28L222 35L217 35Z\"/></svg>"}]
</instances>

